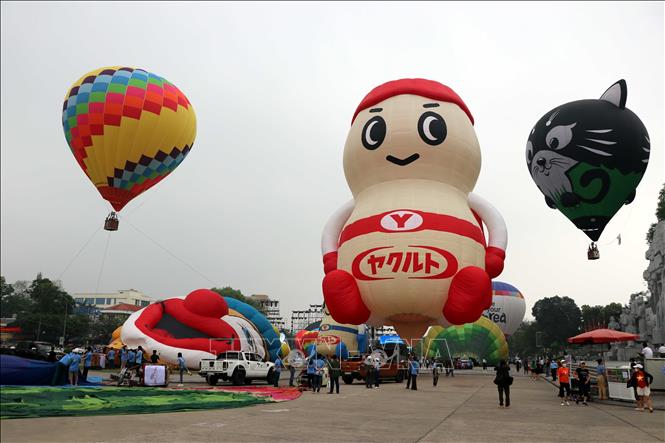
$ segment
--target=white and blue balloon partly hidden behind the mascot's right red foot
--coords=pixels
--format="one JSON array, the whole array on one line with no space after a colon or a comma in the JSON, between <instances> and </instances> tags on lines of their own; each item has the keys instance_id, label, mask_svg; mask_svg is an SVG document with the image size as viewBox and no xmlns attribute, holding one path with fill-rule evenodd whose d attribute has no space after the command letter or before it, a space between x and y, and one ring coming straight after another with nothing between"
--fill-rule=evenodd
<instances>
[{"instance_id":1,"label":"white and blue balloon partly hidden behind the mascot's right red foot","mask_svg":"<svg viewBox=\"0 0 665 443\"><path fill-rule=\"evenodd\" d=\"M483 316L509 336L519 328L525 313L526 303L519 289L509 283L492 282L492 307L483 312Z\"/></svg>"}]
</instances>

